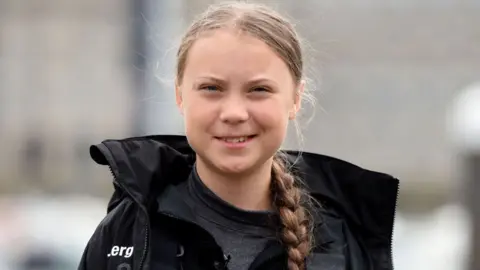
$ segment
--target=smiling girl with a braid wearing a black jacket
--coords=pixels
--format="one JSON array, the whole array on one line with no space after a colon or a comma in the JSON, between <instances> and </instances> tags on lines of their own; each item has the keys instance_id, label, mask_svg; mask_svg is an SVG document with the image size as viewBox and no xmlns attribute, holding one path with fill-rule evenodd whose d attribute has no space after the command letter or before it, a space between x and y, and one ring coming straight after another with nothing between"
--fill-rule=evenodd
<instances>
[{"instance_id":1,"label":"smiling girl with a braid wearing a black jacket","mask_svg":"<svg viewBox=\"0 0 480 270\"><path fill-rule=\"evenodd\" d=\"M178 50L186 137L91 148L115 192L79 269L393 269L398 181L279 151L308 95L303 69L297 34L279 14L210 7Z\"/></svg>"}]
</instances>

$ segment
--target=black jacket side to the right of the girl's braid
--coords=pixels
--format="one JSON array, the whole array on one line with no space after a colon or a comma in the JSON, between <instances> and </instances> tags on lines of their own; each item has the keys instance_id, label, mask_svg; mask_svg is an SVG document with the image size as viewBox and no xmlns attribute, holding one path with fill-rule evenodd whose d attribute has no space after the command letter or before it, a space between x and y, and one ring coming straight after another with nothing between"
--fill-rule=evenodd
<instances>
[{"instance_id":1,"label":"black jacket side to the right of the girl's braid","mask_svg":"<svg viewBox=\"0 0 480 270\"><path fill-rule=\"evenodd\" d=\"M393 269L399 180L334 157L289 154L294 172L320 202L314 215L317 263Z\"/></svg>"}]
</instances>

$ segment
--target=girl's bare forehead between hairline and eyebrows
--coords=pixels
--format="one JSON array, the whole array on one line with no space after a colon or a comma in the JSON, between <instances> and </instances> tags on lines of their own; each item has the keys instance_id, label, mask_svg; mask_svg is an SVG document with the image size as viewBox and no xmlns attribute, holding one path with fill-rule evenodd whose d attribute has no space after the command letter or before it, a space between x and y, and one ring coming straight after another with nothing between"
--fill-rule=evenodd
<instances>
[{"instance_id":1,"label":"girl's bare forehead between hairline and eyebrows","mask_svg":"<svg viewBox=\"0 0 480 270\"><path fill-rule=\"evenodd\" d=\"M266 76L280 83L293 83L281 57L265 42L232 30L215 30L199 38L187 55L185 76L214 73L226 79Z\"/></svg>"}]
</instances>

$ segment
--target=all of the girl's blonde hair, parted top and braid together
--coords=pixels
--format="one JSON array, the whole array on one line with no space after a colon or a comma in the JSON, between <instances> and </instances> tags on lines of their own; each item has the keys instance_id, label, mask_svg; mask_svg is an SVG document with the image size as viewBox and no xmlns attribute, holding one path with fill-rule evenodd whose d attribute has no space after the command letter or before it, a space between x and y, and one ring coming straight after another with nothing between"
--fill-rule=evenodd
<instances>
[{"instance_id":1,"label":"all of the girl's blonde hair, parted top and braid together","mask_svg":"<svg viewBox=\"0 0 480 270\"><path fill-rule=\"evenodd\" d=\"M188 28L177 52L176 81L181 85L188 52L193 43L208 31L232 29L265 42L287 65L297 84L304 76L304 60L299 37L293 25L274 10L260 4L224 2L210 6ZM300 94L300 93L296 93ZM304 93L302 98L309 97ZM298 131L298 130L297 130ZM288 268L304 269L312 246L312 218L308 214L309 196L288 169L278 152L272 166L272 198L281 223L280 238L288 252Z\"/></svg>"}]
</instances>

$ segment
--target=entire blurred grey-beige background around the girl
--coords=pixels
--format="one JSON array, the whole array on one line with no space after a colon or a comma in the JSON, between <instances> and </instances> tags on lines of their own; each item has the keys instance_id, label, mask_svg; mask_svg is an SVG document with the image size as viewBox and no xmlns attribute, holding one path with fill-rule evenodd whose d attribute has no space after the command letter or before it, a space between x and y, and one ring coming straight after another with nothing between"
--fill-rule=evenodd
<instances>
[{"instance_id":1,"label":"entire blurred grey-beige background around the girl","mask_svg":"<svg viewBox=\"0 0 480 270\"><path fill-rule=\"evenodd\" d=\"M76 269L112 192L88 147L183 133L176 48L213 2L0 0L0 270ZM396 269L480 269L480 1L260 2L317 97L286 147L401 180Z\"/></svg>"}]
</instances>

